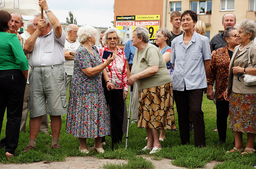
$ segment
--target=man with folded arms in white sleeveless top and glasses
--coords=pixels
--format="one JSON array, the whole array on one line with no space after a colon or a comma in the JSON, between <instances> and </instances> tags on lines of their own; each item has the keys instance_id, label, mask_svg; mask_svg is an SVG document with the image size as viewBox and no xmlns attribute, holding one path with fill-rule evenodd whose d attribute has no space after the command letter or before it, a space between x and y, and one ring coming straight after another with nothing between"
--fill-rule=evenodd
<instances>
[{"instance_id":1,"label":"man with folded arms in white sleeveless top and glasses","mask_svg":"<svg viewBox=\"0 0 256 169\"><path fill-rule=\"evenodd\" d=\"M75 24L70 24L67 28L68 37L66 37L64 56L65 56L65 71L66 71L66 91L68 91L68 86L70 86L71 77L74 72L74 55L76 49L78 49L80 42L77 40L78 36L76 32L78 31L78 26Z\"/></svg>"}]
</instances>

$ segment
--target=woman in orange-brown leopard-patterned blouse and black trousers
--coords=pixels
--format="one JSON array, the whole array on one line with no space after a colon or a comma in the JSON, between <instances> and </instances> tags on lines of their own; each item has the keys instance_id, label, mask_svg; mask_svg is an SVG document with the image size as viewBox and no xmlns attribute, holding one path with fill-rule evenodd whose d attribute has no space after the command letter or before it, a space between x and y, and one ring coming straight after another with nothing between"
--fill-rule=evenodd
<instances>
[{"instance_id":1,"label":"woman in orange-brown leopard-patterned blouse and black trousers","mask_svg":"<svg viewBox=\"0 0 256 169\"><path fill-rule=\"evenodd\" d=\"M212 56L212 63L207 74L207 98L213 100L213 84L216 80L216 110L217 128L219 134L219 144L226 142L226 121L229 115L229 102L223 97L223 93L228 87L228 69L234 48L239 45L236 40L237 29L227 27L225 40L227 46L221 47Z\"/></svg>"}]
</instances>

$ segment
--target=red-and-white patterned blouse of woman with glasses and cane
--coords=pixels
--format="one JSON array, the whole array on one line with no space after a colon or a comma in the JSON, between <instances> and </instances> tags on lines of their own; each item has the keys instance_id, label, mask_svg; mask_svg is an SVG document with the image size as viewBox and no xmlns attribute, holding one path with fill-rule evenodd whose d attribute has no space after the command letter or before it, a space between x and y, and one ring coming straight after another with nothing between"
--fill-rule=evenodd
<instances>
[{"instance_id":1,"label":"red-and-white patterned blouse of woman with glasses and cane","mask_svg":"<svg viewBox=\"0 0 256 169\"><path fill-rule=\"evenodd\" d=\"M104 50L110 51L107 46L101 48L99 50L101 58ZM102 62L104 63L105 61L106 59L102 58ZM126 57L124 51L121 50L118 46L116 58L106 67L106 70L108 73L108 77L111 80L111 83L115 85L115 89L123 89L125 91L128 91L128 85L126 84Z\"/></svg>"}]
</instances>

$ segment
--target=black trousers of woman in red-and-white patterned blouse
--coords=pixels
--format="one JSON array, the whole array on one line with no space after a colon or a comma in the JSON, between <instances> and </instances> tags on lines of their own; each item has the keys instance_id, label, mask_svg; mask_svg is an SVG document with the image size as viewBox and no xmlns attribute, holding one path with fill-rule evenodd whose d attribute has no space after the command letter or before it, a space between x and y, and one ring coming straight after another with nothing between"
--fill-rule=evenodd
<instances>
[{"instance_id":1,"label":"black trousers of woman in red-and-white patterned blouse","mask_svg":"<svg viewBox=\"0 0 256 169\"><path fill-rule=\"evenodd\" d=\"M111 98L110 98L111 92ZM112 117L113 122L113 133L111 133L111 137L113 139L113 143L119 143L123 138L123 117L124 117L124 101L123 101L123 89L114 89L108 91L104 88L104 94L106 97L107 105L110 106L110 99L112 103L112 116L110 114L110 118Z\"/></svg>"}]
</instances>

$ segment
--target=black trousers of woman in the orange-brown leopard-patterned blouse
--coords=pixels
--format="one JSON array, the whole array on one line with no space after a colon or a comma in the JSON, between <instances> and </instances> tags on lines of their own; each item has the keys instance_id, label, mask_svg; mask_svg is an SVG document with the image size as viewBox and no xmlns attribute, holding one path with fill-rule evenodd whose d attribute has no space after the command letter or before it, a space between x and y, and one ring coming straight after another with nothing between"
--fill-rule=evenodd
<instances>
[{"instance_id":1,"label":"black trousers of woman in the orange-brown leopard-patterned blouse","mask_svg":"<svg viewBox=\"0 0 256 169\"><path fill-rule=\"evenodd\" d=\"M229 116L229 102L225 100L216 102L217 110L217 129L219 134L219 141L226 141L226 127Z\"/></svg>"}]
</instances>

